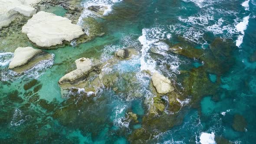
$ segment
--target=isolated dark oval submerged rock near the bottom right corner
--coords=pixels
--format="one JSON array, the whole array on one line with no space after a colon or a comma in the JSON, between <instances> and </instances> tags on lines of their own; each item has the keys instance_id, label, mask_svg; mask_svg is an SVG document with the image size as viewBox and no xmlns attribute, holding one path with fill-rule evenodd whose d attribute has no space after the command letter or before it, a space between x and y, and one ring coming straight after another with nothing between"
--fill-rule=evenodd
<instances>
[{"instance_id":1,"label":"isolated dark oval submerged rock near the bottom right corner","mask_svg":"<svg viewBox=\"0 0 256 144\"><path fill-rule=\"evenodd\" d=\"M234 115L234 119L233 119L233 124L232 124L232 128L235 131L240 131L240 132L244 132L246 131L246 120L245 118L243 118L243 115Z\"/></svg>"}]
</instances>

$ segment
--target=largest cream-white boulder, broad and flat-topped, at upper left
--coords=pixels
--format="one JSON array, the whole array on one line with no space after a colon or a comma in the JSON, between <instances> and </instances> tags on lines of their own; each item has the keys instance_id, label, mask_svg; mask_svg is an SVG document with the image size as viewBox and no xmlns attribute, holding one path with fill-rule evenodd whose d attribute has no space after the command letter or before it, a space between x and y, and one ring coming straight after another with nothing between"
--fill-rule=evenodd
<instances>
[{"instance_id":1,"label":"largest cream-white boulder, broad and flat-topped, at upper left","mask_svg":"<svg viewBox=\"0 0 256 144\"><path fill-rule=\"evenodd\" d=\"M82 27L72 24L71 20L44 11L33 15L23 26L22 32L40 47L56 46L64 40L70 42L85 34Z\"/></svg>"}]
</instances>

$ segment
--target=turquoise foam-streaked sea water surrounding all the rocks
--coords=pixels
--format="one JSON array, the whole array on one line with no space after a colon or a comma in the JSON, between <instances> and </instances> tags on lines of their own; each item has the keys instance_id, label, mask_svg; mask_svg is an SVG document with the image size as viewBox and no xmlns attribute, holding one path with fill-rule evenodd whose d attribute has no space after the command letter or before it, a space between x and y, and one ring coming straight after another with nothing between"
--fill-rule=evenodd
<instances>
[{"instance_id":1,"label":"turquoise foam-streaked sea water surrounding all the rocks","mask_svg":"<svg viewBox=\"0 0 256 144\"><path fill-rule=\"evenodd\" d=\"M252 59L256 51L256 2L249 0L249 10L241 5L243 2L83 1L85 7L88 3L112 5L112 11L104 19L96 18L104 25L104 36L78 46L47 50L54 54L54 60L25 75L15 76L7 70L8 64L1 66L0 142L199 144L203 138L210 140L200 137L202 133L214 133L214 141L219 144L227 141L253 144L256 140L256 62ZM60 16L65 14L60 7L51 10ZM237 39L241 36L243 43L239 45ZM199 58L194 51L182 56L166 50L159 42L168 46L182 43L187 49L196 48L203 53ZM115 50L130 46L140 54L111 67L110 73L121 75L115 84L118 92L102 88L96 97L87 97L83 92L70 92L70 98L62 96L57 82L74 69L76 59L105 61L112 58ZM1 53L1 62L10 62L12 54L7 54ZM167 115L165 119L155 121L149 128L151 136L141 136L138 141L131 134L141 127L148 128L143 124L154 97L150 76L144 75L142 69L159 71L174 80L184 90L181 93L188 102L181 102L183 106L175 115L178 120L174 126L168 125L172 114L165 111L162 114ZM193 72L194 77L188 77L186 72ZM135 82L130 80L134 75L138 78ZM25 90L23 86L33 79L37 80L36 84ZM189 86L184 83L186 79ZM40 87L38 92L36 87ZM138 123L125 121L130 111L137 114ZM233 126L237 115L235 125L245 126L241 131Z\"/></svg>"}]
</instances>

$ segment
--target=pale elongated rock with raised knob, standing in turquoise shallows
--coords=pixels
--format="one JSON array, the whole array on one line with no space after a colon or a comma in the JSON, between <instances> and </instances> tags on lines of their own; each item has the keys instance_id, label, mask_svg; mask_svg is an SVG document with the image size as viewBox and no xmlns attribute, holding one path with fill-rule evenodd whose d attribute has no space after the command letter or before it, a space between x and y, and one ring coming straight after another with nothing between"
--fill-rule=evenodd
<instances>
[{"instance_id":1,"label":"pale elongated rock with raised knob, standing in turquoise shallows","mask_svg":"<svg viewBox=\"0 0 256 144\"><path fill-rule=\"evenodd\" d=\"M80 58L75 60L76 68L72 72L64 75L59 79L59 84L69 82L70 84L79 83L82 80L85 80L94 67L92 66L92 60L87 58Z\"/></svg>"}]
</instances>

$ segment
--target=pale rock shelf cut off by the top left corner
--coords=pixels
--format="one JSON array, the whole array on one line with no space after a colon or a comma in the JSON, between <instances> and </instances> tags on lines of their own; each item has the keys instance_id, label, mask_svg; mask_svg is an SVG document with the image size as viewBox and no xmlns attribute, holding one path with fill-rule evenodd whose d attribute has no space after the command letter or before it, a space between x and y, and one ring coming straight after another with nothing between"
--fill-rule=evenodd
<instances>
[{"instance_id":1,"label":"pale rock shelf cut off by the top left corner","mask_svg":"<svg viewBox=\"0 0 256 144\"><path fill-rule=\"evenodd\" d=\"M31 17L36 13L36 9L30 5L38 0L0 0L0 29L9 26L10 23L22 14Z\"/></svg>"}]
</instances>

